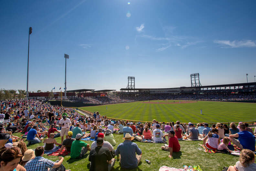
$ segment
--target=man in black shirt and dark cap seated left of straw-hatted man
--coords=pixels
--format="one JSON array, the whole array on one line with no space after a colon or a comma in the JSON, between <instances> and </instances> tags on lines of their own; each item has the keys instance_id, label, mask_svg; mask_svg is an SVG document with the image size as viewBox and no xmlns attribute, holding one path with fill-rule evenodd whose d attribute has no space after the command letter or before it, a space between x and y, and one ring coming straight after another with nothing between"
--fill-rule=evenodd
<instances>
[{"instance_id":1,"label":"man in black shirt and dark cap seated left of straw-hatted man","mask_svg":"<svg viewBox=\"0 0 256 171\"><path fill-rule=\"evenodd\" d=\"M90 171L110 171L113 168L116 159L112 158L111 152L108 148L103 147L104 141L102 138L98 138L96 142L97 147L90 151Z\"/></svg>"}]
</instances>

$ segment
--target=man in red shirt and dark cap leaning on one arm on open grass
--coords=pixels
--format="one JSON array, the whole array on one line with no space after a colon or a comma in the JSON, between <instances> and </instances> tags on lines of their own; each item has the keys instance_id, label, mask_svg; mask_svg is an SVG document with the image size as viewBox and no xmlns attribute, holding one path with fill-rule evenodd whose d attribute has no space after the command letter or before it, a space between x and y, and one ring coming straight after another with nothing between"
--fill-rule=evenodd
<instances>
[{"instance_id":1,"label":"man in red shirt and dark cap leaning on one arm on open grass","mask_svg":"<svg viewBox=\"0 0 256 171\"><path fill-rule=\"evenodd\" d=\"M168 157L173 156L173 152L179 152L180 151L180 145L178 138L175 136L174 131L168 131L168 137L169 137L169 146L165 144L165 146L162 146L161 148L165 151L170 151L170 155Z\"/></svg>"}]
</instances>

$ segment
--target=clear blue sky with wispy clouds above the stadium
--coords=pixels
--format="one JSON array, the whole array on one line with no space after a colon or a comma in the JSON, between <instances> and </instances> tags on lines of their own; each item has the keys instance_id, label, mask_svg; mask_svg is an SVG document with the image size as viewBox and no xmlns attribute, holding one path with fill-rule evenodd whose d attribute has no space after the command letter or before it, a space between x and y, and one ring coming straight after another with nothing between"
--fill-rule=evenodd
<instances>
[{"instance_id":1,"label":"clear blue sky with wispy clouds above the stadium","mask_svg":"<svg viewBox=\"0 0 256 171\"><path fill-rule=\"evenodd\" d=\"M129 3L130 4L129 4ZM0 88L29 91L254 81L255 1L2 1Z\"/></svg>"}]
</instances>

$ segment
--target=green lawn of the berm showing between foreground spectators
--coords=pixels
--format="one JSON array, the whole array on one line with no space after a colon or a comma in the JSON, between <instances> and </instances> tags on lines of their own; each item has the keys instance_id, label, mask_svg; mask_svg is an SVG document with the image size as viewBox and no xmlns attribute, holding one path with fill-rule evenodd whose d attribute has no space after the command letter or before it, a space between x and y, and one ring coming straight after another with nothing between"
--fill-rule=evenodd
<instances>
[{"instance_id":1,"label":"green lawn of the berm showing between foreground spectators","mask_svg":"<svg viewBox=\"0 0 256 171\"><path fill-rule=\"evenodd\" d=\"M14 135L21 137L20 133L15 133ZM123 135L114 134L117 144L114 146L114 149L117 148L118 144L123 142L122 137ZM60 143L61 138L58 137L56 140ZM92 141L84 142L90 145L92 143ZM239 160L238 156L221 153L209 154L205 153L203 150L198 150L198 147L200 147L198 143L203 143L202 141L179 141L181 150L180 152L174 153L171 159L168 157L169 152L160 149L164 144L134 142L142 150L142 160L137 168L131 169L130 171L157 171L161 166L183 168L183 165L200 165L202 170L213 171L222 170L224 166L234 165L236 161ZM25 143L27 144L27 141L25 141ZM28 149L35 149L37 146L43 146L43 143L28 146ZM44 157L52 161L59 159L58 156L44 155ZM70 156L65 156L63 165L66 169L71 169L72 171L89 170L89 168L87 168L87 166L89 166L88 158L89 152L81 159L70 159ZM146 159L151 161L150 165L145 162ZM116 161L112 171L117 170L126 171L127 169L120 168L119 162Z\"/></svg>"}]
</instances>

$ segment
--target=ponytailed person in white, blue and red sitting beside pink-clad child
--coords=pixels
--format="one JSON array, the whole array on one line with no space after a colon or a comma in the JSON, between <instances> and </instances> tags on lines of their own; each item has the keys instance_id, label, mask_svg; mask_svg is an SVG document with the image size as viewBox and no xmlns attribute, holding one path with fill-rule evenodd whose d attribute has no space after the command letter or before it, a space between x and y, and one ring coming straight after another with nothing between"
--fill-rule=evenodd
<instances>
[{"instance_id":1,"label":"ponytailed person in white, blue and red sitting beside pink-clad child","mask_svg":"<svg viewBox=\"0 0 256 171\"><path fill-rule=\"evenodd\" d=\"M211 131L209 131L208 135L204 138L204 145L210 149L210 150L217 150L218 145L220 143L219 138L219 130L218 128L213 128ZM206 140L208 139L208 142Z\"/></svg>"}]
</instances>

